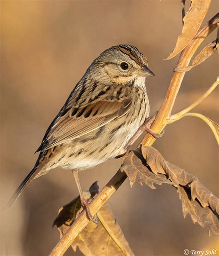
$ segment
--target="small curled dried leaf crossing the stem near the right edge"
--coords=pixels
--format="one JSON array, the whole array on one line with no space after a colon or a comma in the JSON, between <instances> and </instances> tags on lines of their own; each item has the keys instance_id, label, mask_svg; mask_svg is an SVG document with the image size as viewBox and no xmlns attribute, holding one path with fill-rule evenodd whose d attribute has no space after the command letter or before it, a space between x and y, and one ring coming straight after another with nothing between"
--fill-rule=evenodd
<instances>
[{"instance_id":1,"label":"small curled dried leaf crossing the stem near the right edge","mask_svg":"<svg viewBox=\"0 0 219 256\"><path fill-rule=\"evenodd\" d=\"M192 65L188 67L175 68L175 72L186 72L198 66L202 62L204 62L207 58L209 58L216 50L218 49L218 39L211 42L209 45L205 46L201 52L195 56Z\"/></svg>"}]
</instances>

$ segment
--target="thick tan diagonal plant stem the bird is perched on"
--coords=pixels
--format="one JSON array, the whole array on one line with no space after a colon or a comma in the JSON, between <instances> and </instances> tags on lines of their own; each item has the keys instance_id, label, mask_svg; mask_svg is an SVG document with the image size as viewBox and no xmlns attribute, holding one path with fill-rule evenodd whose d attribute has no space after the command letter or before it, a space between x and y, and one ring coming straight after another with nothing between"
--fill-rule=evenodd
<instances>
[{"instance_id":1,"label":"thick tan diagonal plant stem the bird is perched on","mask_svg":"<svg viewBox=\"0 0 219 256\"><path fill-rule=\"evenodd\" d=\"M219 22L219 14L216 14L208 23L203 26L200 31L197 33L196 37L189 43L189 45L184 49L182 55L178 61L178 67L187 66L190 62L190 59L194 55L196 49L201 44L201 42L217 27ZM161 108L158 112L158 115L155 119L155 122L152 125L152 129L155 132L160 133L167 122L166 119L170 117L173 104L176 99L176 95L180 88L180 85L183 81L185 72L174 73L166 96L164 97ZM144 139L141 141L142 144L146 146L152 146L155 139L150 135L146 134ZM122 159L122 162L124 158ZM106 201L116 192L116 190L122 185L124 180L127 178L125 173L122 173L120 170L114 175L112 179L103 187L102 191L97 195L96 198L90 204L91 214L95 215L97 211L106 203ZM55 248L50 253L50 256L60 256L63 255L68 247L73 243L74 239L79 235L79 233L85 228L89 223L89 220L86 217L85 211L82 211L79 217L74 221L72 226L67 230L64 236L57 243Z\"/></svg>"}]
</instances>

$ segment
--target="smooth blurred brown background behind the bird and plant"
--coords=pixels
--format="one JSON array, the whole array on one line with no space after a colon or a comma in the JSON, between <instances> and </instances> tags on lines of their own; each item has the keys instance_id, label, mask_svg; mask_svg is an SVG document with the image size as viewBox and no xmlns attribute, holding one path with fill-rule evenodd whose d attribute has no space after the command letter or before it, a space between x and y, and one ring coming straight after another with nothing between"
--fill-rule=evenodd
<instances>
[{"instance_id":1,"label":"smooth blurred brown background behind the bird and plant","mask_svg":"<svg viewBox=\"0 0 219 256\"><path fill-rule=\"evenodd\" d=\"M204 22L217 7L213 0ZM181 30L180 0L1 1L1 208L34 166L37 156L33 153L46 128L94 58L112 45L139 48L156 74L147 80L153 114L178 60L178 56L164 58ZM215 38L216 31L201 48ZM189 71L173 112L201 96L215 81L217 70L214 54ZM195 111L218 121L216 93ZM218 147L206 123L195 117L181 119L167 126L153 146L219 196ZM102 188L119 166L120 160L111 160L81 172L83 189L95 180ZM13 207L0 214L0 255L48 255L59 240L53 220L77 194L71 171L55 169L34 180ZM184 249L216 247L214 235L208 237L189 216L183 219L173 187L130 188L127 179L109 204L136 256L182 256ZM70 248L65 255L82 254Z\"/></svg>"}]
</instances>

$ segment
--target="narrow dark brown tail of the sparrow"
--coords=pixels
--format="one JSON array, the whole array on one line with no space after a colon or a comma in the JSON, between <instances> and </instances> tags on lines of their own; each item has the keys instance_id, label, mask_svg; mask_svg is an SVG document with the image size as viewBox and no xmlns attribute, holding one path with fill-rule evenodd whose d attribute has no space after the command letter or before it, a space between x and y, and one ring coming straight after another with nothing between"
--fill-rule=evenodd
<instances>
[{"instance_id":1,"label":"narrow dark brown tail of the sparrow","mask_svg":"<svg viewBox=\"0 0 219 256\"><path fill-rule=\"evenodd\" d=\"M6 208L4 211L7 211L12 205L13 203L18 199L18 197L20 196L20 194L24 191L24 189L30 184L30 182L35 178L36 174L38 172L36 172L38 166L34 166L34 168L31 170L31 172L26 176L26 178L21 182L20 186L18 186L18 188L16 189L16 191L13 193L11 199L9 200L9 202L6 205Z\"/></svg>"}]
</instances>

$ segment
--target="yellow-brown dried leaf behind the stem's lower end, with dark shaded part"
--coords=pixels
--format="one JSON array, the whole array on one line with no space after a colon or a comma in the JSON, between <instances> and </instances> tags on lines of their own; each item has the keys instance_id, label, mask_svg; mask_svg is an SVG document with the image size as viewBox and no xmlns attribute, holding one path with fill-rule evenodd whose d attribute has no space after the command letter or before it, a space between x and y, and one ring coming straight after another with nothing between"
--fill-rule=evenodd
<instances>
[{"instance_id":1,"label":"yellow-brown dried leaf behind the stem's lower end, with dark shaded part","mask_svg":"<svg viewBox=\"0 0 219 256\"><path fill-rule=\"evenodd\" d=\"M85 198L94 197L98 193L97 182L85 193ZM59 215L53 225L57 225L60 237L68 230L81 211L80 198L73 199L69 204L59 210ZM134 256L126 241L119 224L113 216L108 204L97 212L99 226L90 222L74 240L72 248L79 250L86 256Z\"/></svg>"}]
</instances>

